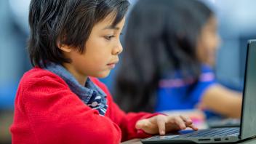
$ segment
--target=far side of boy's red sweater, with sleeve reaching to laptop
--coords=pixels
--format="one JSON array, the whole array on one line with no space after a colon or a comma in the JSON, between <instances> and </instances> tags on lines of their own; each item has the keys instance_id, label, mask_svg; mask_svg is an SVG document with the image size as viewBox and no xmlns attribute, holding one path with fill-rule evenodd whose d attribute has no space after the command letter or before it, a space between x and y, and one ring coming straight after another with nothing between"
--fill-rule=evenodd
<instances>
[{"instance_id":1,"label":"far side of boy's red sweater, with sleeve reaching to laptop","mask_svg":"<svg viewBox=\"0 0 256 144\"><path fill-rule=\"evenodd\" d=\"M140 119L150 118L152 116L156 116L159 113L124 113L121 111L118 105L113 102L111 97L111 93L109 92L108 88L97 79L91 78L92 81L97 84L98 87L103 89L106 95L108 95L108 110L106 112L106 116L109 116L112 121L119 125L122 132L121 140L130 140L132 138L143 138L149 137L151 135L146 134L142 130L135 129L135 124Z\"/></svg>"}]
</instances>

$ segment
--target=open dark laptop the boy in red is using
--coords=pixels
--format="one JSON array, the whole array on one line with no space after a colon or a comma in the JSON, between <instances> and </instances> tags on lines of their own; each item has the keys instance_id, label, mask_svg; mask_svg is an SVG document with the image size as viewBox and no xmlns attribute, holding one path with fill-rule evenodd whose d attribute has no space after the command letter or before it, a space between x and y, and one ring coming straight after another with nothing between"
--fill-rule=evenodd
<instances>
[{"instance_id":1,"label":"open dark laptop the boy in red is using","mask_svg":"<svg viewBox=\"0 0 256 144\"><path fill-rule=\"evenodd\" d=\"M256 136L256 39L249 40L244 73L244 91L239 127L181 130L177 134L157 135L142 143L236 143Z\"/></svg>"}]
</instances>

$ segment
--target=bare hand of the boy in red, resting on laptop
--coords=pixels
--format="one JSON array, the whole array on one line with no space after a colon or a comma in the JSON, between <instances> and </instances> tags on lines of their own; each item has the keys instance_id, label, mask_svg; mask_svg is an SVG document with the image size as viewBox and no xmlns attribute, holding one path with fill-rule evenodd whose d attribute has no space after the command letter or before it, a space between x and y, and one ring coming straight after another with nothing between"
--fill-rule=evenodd
<instances>
[{"instance_id":1,"label":"bare hand of the boy in red, resting on laptop","mask_svg":"<svg viewBox=\"0 0 256 144\"><path fill-rule=\"evenodd\" d=\"M191 127L193 130L198 130L193 126L191 119L185 116L153 116L149 119L142 119L135 124L136 129L142 129L148 134L165 135L166 132L177 131Z\"/></svg>"}]
</instances>

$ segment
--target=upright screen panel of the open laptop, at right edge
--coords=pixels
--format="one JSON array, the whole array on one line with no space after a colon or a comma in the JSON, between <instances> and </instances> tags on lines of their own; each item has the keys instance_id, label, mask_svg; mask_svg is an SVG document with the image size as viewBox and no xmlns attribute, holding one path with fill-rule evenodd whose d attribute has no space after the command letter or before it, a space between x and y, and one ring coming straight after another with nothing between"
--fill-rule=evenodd
<instances>
[{"instance_id":1,"label":"upright screen panel of the open laptop, at right edge","mask_svg":"<svg viewBox=\"0 0 256 144\"><path fill-rule=\"evenodd\" d=\"M256 40L249 40L244 73L241 139L256 135Z\"/></svg>"}]
</instances>

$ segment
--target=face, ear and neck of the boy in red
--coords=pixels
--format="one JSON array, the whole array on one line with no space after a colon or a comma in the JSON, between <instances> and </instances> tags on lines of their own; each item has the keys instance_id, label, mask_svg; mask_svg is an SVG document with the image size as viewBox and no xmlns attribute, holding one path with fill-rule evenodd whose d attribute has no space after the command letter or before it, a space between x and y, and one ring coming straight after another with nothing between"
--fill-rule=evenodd
<instances>
[{"instance_id":1,"label":"face, ear and neck of the boy in red","mask_svg":"<svg viewBox=\"0 0 256 144\"><path fill-rule=\"evenodd\" d=\"M111 69L119 62L118 55L123 50L119 36L124 27L125 18L114 28L111 27L111 18L106 17L105 20L100 21L92 28L83 54L76 49L64 46L63 53L72 62L63 63L63 65L80 84L84 84L87 76L98 78L108 76Z\"/></svg>"}]
</instances>

